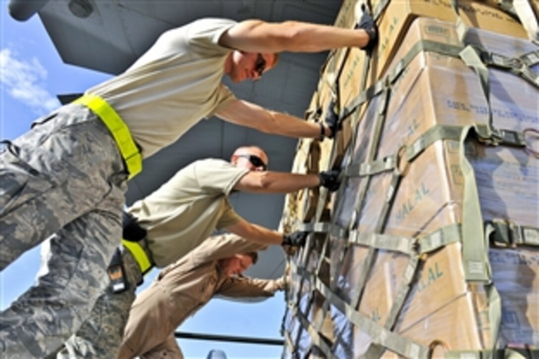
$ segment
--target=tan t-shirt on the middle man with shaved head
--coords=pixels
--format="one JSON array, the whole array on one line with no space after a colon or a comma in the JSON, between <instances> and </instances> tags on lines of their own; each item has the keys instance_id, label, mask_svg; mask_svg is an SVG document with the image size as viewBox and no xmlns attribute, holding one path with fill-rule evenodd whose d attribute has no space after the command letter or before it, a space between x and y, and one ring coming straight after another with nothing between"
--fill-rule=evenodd
<instances>
[{"instance_id":1,"label":"tan t-shirt on the middle man with shaved head","mask_svg":"<svg viewBox=\"0 0 539 359\"><path fill-rule=\"evenodd\" d=\"M213 158L196 161L129 208L148 231L156 266L178 260L215 229L240 220L227 196L248 171Z\"/></svg>"}]
</instances>

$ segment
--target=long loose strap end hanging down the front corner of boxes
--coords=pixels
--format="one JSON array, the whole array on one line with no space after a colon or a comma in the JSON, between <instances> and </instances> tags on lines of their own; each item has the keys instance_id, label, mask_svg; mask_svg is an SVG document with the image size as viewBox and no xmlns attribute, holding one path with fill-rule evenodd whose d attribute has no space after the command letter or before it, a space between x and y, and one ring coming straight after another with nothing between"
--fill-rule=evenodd
<instances>
[{"instance_id":1,"label":"long loose strap end hanging down the front corner of boxes","mask_svg":"<svg viewBox=\"0 0 539 359\"><path fill-rule=\"evenodd\" d=\"M472 165L465 156L465 141L472 127L465 127L459 146L460 168L464 177L462 198L462 260L467 281L490 283L487 247L483 228L479 194Z\"/></svg>"}]
</instances>

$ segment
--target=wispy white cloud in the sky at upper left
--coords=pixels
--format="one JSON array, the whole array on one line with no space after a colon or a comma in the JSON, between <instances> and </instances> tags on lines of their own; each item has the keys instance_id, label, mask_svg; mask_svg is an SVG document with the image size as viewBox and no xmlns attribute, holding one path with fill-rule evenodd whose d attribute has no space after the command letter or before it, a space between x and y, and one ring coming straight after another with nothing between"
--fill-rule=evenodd
<instances>
[{"instance_id":1,"label":"wispy white cloud in the sky at upper left","mask_svg":"<svg viewBox=\"0 0 539 359\"><path fill-rule=\"evenodd\" d=\"M52 111L59 101L46 89L47 70L37 58L18 59L10 49L0 50L0 81L4 91L38 114Z\"/></svg>"}]
</instances>

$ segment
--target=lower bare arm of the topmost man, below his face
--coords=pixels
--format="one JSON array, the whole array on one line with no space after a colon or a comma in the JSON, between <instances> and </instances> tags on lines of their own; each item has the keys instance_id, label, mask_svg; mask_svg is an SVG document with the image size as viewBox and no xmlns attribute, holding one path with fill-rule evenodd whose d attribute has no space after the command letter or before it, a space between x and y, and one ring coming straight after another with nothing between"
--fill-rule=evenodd
<instances>
[{"instance_id":1,"label":"lower bare arm of the topmost man, below his face","mask_svg":"<svg viewBox=\"0 0 539 359\"><path fill-rule=\"evenodd\" d=\"M294 138L316 138L321 134L318 123L303 121L285 113L269 111L244 100L231 101L215 114L227 122L254 128L264 133ZM325 124L323 126L325 136L330 136L329 127Z\"/></svg>"}]
</instances>

